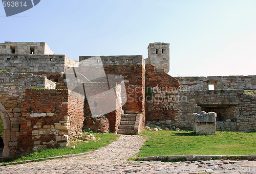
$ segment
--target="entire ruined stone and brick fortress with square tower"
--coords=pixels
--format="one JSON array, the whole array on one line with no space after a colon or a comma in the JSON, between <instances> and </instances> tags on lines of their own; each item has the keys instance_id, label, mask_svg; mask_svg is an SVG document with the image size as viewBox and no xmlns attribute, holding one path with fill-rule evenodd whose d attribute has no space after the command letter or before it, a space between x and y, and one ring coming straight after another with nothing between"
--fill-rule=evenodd
<instances>
[{"instance_id":1,"label":"entire ruined stone and brick fortress with square tower","mask_svg":"<svg viewBox=\"0 0 256 174\"><path fill-rule=\"evenodd\" d=\"M66 146L82 129L193 129L193 113L201 111L217 113L217 131L256 131L256 76L171 77L166 43L150 43L147 59L91 58L56 55L44 42L0 44L0 70L6 70L0 73L3 158ZM114 100L102 103L108 91ZM114 110L102 114L110 105Z\"/></svg>"}]
</instances>

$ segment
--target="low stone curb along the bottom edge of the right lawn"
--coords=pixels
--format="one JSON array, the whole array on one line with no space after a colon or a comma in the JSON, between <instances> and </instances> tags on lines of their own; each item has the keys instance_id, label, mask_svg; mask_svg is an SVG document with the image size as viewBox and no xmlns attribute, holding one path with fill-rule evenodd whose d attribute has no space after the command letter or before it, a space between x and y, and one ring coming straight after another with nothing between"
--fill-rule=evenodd
<instances>
[{"instance_id":1,"label":"low stone curb along the bottom edge of the right lawn","mask_svg":"<svg viewBox=\"0 0 256 174\"><path fill-rule=\"evenodd\" d=\"M256 160L256 155L170 155L137 158L136 161Z\"/></svg>"}]
</instances>

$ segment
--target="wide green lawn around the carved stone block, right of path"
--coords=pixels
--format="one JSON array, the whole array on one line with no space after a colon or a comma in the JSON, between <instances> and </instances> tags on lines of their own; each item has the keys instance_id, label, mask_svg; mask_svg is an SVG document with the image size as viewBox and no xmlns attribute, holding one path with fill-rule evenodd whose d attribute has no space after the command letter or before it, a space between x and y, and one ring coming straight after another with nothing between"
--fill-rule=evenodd
<instances>
[{"instance_id":1,"label":"wide green lawn around the carved stone block, right of path","mask_svg":"<svg viewBox=\"0 0 256 174\"><path fill-rule=\"evenodd\" d=\"M256 132L217 132L196 135L193 131L143 131L148 139L137 157L162 155L255 155Z\"/></svg>"}]
</instances>

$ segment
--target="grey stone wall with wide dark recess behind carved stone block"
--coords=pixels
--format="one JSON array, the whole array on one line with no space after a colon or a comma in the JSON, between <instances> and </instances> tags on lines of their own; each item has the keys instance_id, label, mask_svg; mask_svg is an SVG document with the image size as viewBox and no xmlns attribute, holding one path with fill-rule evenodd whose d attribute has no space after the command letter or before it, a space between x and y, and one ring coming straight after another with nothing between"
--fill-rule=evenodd
<instances>
[{"instance_id":1,"label":"grey stone wall with wide dark recess behind carved stone block","mask_svg":"<svg viewBox=\"0 0 256 174\"><path fill-rule=\"evenodd\" d=\"M193 129L193 113L217 112L218 131L256 130L256 97L244 90L194 90L179 91L182 98L176 101L178 109L174 125Z\"/></svg>"}]
</instances>

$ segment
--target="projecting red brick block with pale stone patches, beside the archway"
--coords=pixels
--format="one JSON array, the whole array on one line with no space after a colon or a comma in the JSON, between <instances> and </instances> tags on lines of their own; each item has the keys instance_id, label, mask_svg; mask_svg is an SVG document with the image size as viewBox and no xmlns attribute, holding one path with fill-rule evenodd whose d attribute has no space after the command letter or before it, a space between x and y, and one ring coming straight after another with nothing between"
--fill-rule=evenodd
<instances>
[{"instance_id":1,"label":"projecting red brick block with pale stone patches, beside the archway","mask_svg":"<svg viewBox=\"0 0 256 174\"><path fill-rule=\"evenodd\" d=\"M67 89L26 90L17 154L63 147L83 126L83 97Z\"/></svg>"}]
</instances>

